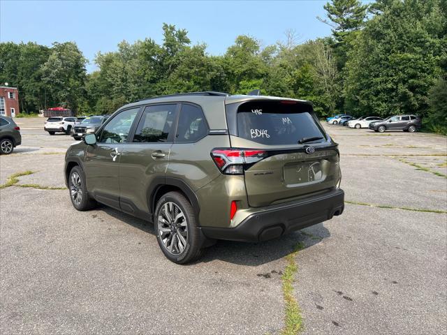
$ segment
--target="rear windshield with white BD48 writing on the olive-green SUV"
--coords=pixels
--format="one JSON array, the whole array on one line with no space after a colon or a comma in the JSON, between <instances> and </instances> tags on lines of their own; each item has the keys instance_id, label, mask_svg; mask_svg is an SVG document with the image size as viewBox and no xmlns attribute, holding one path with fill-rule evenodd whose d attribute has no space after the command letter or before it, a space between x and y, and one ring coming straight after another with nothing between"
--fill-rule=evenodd
<instances>
[{"instance_id":1,"label":"rear windshield with white BD48 writing on the olive-green SUV","mask_svg":"<svg viewBox=\"0 0 447 335\"><path fill-rule=\"evenodd\" d=\"M239 137L261 144L298 144L322 142L325 134L312 117L312 106L294 101L253 101L237 110Z\"/></svg>"}]
</instances>

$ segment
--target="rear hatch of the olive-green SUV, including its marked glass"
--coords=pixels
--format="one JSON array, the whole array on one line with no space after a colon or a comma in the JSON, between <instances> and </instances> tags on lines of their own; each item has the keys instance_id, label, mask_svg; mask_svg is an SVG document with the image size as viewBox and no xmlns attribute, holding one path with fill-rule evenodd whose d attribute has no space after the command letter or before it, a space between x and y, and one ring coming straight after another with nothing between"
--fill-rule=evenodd
<instances>
[{"instance_id":1,"label":"rear hatch of the olive-green SUV, including its marked glass","mask_svg":"<svg viewBox=\"0 0 447 335\"><path fill-rule=\"evenodd\" d=\"M325 134L312 105L290 100L247 101L229 110L233 113L227 112L227 119L235 117L236 122L230 129L231 146L265 150L261 160L244 169L251 207L298 200L337 185L337 144Z\"/></svg>"}]
</instances>

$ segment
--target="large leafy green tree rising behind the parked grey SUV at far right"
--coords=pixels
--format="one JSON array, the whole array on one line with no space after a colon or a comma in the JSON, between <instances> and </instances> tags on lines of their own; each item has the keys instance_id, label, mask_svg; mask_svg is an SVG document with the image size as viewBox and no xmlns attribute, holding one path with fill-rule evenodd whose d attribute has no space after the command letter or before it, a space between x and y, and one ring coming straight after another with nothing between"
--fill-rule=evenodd
<instances>
[{"instance_id":1,"label":"large leafy green tree rising behind the parked grey SUV at far right","mask_svg":"<svg viewBox=\"0 0 447 335\"><path fill-rule=\"evenodd\" d=\"M387 1L381 10L349 53L346 107L358 114L424 116L447 52L446 16L439 0Z\"/></svg>"}]
</instances>

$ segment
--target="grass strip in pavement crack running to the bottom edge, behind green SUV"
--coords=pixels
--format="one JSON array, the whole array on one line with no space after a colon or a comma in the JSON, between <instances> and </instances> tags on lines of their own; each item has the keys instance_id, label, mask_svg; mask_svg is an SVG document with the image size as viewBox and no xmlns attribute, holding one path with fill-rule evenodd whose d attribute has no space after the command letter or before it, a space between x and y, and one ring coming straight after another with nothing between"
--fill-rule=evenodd
<instances>
[{"instance_id":1,"label":"grass strip in pavement crack running to the bottom edge, behind green SUV","mask_svg":"<svg viewBox=\"0 0 447 335\"><path fill-rule=\"evenodd\" d=\"M305 247L301 242L293 248L293 251L286 255L287 266L284 269L284 274L281 276L282 292L284 295L284 302L286 304L284 323L286 327L282 329L283 335L295 335L304 329L301 309L298 306L298 301L293 294L293 282L295 281L295 274L298 272L298 265L295 261L295 256L298 251Z\"/></svg>"}]
</instances>

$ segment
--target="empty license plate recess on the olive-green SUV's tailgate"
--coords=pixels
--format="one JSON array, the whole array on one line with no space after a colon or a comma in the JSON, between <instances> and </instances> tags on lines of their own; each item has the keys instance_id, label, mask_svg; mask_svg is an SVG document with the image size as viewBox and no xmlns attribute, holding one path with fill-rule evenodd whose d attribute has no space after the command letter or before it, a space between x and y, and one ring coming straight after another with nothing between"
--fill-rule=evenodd
<instances>
[{"instance_id":1,"label":"empty license plate recess on the olive-green SUV's tailgate","mask_svg":"<svg viewBox=\"0 0 447 335\"><path fill-rule=\"evenodd\" d=\"M323 178L321 161L305 161L284 166L284 181L287 186L309 184Z\"/></svg>"}]
</instances>

